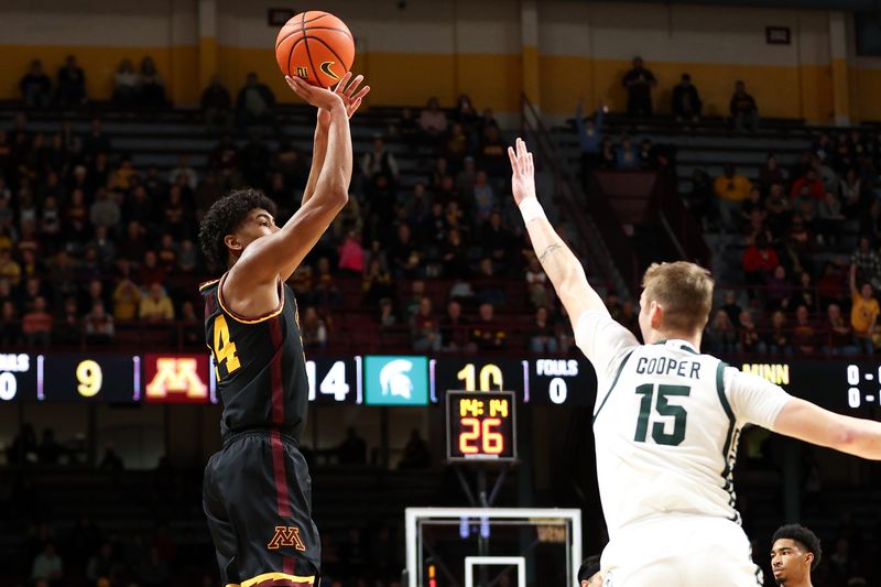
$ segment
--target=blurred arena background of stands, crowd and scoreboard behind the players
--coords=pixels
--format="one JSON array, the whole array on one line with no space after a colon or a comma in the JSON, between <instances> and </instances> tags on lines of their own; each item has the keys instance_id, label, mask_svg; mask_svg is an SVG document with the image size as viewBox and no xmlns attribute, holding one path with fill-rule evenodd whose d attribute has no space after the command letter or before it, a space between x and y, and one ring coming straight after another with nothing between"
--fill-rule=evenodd
<instances>
[{"instance_id":1,"label":"blurred arena background of stands, crowd and scoreboard behind the players","mask_svg":"<svg viewBox=\"0 0 881 587\"><path fill-rule=\"evenodd\" d=\"M472 503L448 389L514 392L519 461L490 469L494 506L580 509L583 553L605 544L596 378L510 197L516 135L617 319L638 330L649 263L700 262L707 351L879 417L875 0L6 0L0 585L218 584L197 286L219 271L196 235L237 187L280 224L298 207L315 116L272 47L303 10L348 24L372 87L349 205L291 280L327 584L398 585L404 508ZM383 390L395 358L410 395ZM815 580L880 584L877 464L748 430L735 477L768 576L771 533L802 521L824 542ZM550 576L529 584L565 585Z\"/></svg>"}]
</instances>

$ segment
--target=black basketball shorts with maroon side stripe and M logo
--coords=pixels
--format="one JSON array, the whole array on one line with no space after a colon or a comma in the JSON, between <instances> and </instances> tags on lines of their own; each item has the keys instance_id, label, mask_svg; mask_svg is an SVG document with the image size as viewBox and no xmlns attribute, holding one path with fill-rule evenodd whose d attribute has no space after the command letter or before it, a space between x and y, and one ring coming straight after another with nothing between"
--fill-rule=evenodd
<instances>
[{"instance_id":1,"label":"black basketball shorts with maroon side stripe and M logo","mask_svg":"<svg viewBox=\"0 0 881 587\"><path fill-rule=\"evenodd\" d=\"M274 431L231 436L208 460L202 496L221 585L318 585L312 480L293 438Z\"/></svg>"}]
</instances>

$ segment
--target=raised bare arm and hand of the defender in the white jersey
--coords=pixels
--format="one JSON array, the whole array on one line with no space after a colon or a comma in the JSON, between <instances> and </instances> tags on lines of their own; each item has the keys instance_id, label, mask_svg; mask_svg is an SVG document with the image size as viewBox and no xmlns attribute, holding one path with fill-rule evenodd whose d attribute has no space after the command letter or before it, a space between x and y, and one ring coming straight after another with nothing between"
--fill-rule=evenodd
<instances>
[{"instance_id":1,"label":"raised bare arm and hand of the defender in the white jersey","mask_svg":"<svg viewBox=\"0 0 881 587\"><path fill-rule=\"evenodd\" d=\"M535 167L532 153L526 150L526 143L518 139L514 148L508 148L508 156L511 159L513 172L511 191L514 202L523 214L535 254L566 307L573 328L576 327L581 314L587 311L608 313L602 298L587 282L587 275L578 258L563 242L542 211L535 196Z\"/></svg>"}]
</instances>

